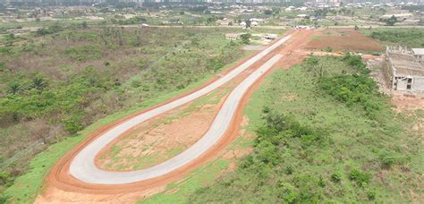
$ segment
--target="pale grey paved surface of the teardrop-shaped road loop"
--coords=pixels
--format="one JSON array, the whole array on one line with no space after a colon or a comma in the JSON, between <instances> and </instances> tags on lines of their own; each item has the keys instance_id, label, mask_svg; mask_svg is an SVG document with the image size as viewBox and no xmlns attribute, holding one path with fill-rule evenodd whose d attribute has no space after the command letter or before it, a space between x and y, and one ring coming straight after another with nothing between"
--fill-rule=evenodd
<instances>
[{"instance_id":1,"label":"pale grey paved surface of the teardrop-shaped road loop","mask_svg":"<svg viewBox=\"0 0 424 204\"><path fill-rule=\"evenodd\" d=\"M98 183L98 184L124 184L124 183L135 183L143 180L155 178L160 175L164 175L174 171L175 169L188 164L191 160L199 157L202 153L210 149L216 141L218 141L225 131L227 130L230 121L233 119L233 115L236 111L237 106L242 100L244 93L250 88L250 86L257 81L267 70L269 70L276 62L282 57L282 55L275 55L269 59L265 64L259 67L258 70L252 72L242 83L240 83L226 98L224 105L219 110L218 114L208 132L189 149L184 150L181 154L173 157L164 163L157 166L152 166L146 169L132 171L132 172L110 172L99 169L95 163L95 157L98 155L101 149L104 149L107 144L112 140L119 137L127 130L132 127L143 123L144 121L154 116L160 115L169 111L177 106L182 106L196 98L204 96L212 90L222 86L227 81L233 80L239 73L245 71L250 65L258 62L262 57L269 54L276 47L281 46L291 36L287 36L278 40L275 44L267 49L260 52L258 55L253 56L250 60L244 64L228 72L225 76L209 84L203 89L199 89L196 92L191 93L183 98L176 99L164 106L158 106L146 113L132 117L131 119L116 125L111 130L103 133L98 139L89 143L87 147L81 150L76 157L73 158L70 166L70 174L73 177L81 180L85 183Z\"/></svg>"}]
</instances>

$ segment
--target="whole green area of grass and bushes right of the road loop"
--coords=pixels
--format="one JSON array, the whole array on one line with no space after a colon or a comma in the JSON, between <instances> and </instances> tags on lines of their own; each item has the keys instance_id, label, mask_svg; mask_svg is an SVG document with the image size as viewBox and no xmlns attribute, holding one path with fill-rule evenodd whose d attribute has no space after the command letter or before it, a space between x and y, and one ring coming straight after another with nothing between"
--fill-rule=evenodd
<instances>
[{"instance_id":1,"label":"whole green area of grass and bushes right of the road loop","mask_svg":"<svg viewBox=\"0 0 424 204\"><path fill-rule=\"evenodd\" d=\"M411 121L424 113L395 115L349 57L312 56L273 73L248 106L250 123L261 121L253 153L189 202L420 200L421 132Z\"/></svg>"}]
</instances>

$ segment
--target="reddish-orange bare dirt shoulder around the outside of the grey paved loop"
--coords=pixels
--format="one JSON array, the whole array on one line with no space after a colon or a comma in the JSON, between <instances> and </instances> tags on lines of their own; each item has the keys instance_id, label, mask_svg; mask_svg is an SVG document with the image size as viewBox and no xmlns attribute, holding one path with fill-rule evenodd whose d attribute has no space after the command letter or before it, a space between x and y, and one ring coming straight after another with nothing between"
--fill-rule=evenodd
<instances>
[{"instance_id":1,"label":"reddish-orange bare dirt shoulder around the outside of the grey paved loop","mask_svg":"<svg viewBox=\"0 0 424 204\"><path fill-rule=\"evenodd\" d=\"M256 64L253 64L249 68L249 71L258 69L260 65L267 62L268 59L270 59L272 56L276 54L282 54L284 56L269 72L272 72L276 68L281 68L281 67L288 68L289 66L293 64L301 63L301 60L306 56L306 54L302 54L301 52L298 52L298 51L300 51L301 48L306 47L309 41L309 38L313 32L314 32L313 30L292 31L291 34L293 38L291 38L288 42L284 43L283 46L276 48L273 52L263 57ZM233 67L237 67L238 65L244 63L250 57L242 60L238 64L235 64ZM231 70L228 70L226 72L230 72L230 71ZM259 84L264 80L265 76L267 76L269 72L267 72L262 78L260 78L259 81L256 81L255 84L249 89L249 91L243 96L242 103L237 107L237 111L234 115L234 119L231 122L229 129L225 132L225 135L221 138L221 140L219 140L213 146L213 148L208 149L206 153L192 160L186 166L183 166L169 174L165 174L163 176L159 176L154 179L149 179L149 180L138 182L138 183L119 184L119 185L83 183L75 179L74 177L72 177L72 175L69 174L68 172L72 158L75 157L75 155L81 149L87 146L91 141L97 139L102 132L106 132L107 130L111 129L115 125L119 123L123 123L124 121L128 120L131 117L134 117L135 115L140 115L141 113L151 110L157 106L164 105L176 99L176 98L172 98L157 106L149 107L148 109L140 113L128 115L124 117L123 119L115 121L114 123L109 123L99 128L96 132L93 132L92 134L90 134L87 137L87 139L83 140L79 145L77 145L75 148L69 151L50 170L50 173L47 176L45 180L45 184L44 184L45 191L42 195L43 199L41 200L38 198L37 201L45 202L47 200L55 200L55 195L51 191L49 193L49 189L59 189L60 191L71 191L75 193L96 194L96 195L117 195L117 194L122 195L125 193L131 193L131 192L143 192L143 191L149 191L149 190L151 191L152 189L163 187L167 183L172 183L174 181L181 179L184 175L189 174L195 168L199 166L203 166L208 161L211 161L212 159L221 155L224 152L225 147L227 147L239 135L239 128L243 118L243 108L247 105L251 94L254 92L255 89L258 88ZM216 81L216 79L217 78L215 78L212 81L208 81L208 83L204 84L202 87L199 87L198 89L201 89L207 86L209 83ZM185 93L184 95L178 98L182 98L183 96L186 96L198 89L193 89L190 92ZM122 137L123 136L120 136L119 138L122 138ZM134 200L136 200L136 198L134 198Z\"/></svg>"}]
</instances>

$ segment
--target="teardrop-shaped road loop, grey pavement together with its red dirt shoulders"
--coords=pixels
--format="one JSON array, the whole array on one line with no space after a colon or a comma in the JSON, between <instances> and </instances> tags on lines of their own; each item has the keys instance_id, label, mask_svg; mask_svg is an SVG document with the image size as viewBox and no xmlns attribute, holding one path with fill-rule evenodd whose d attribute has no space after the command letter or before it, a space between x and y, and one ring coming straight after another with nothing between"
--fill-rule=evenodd
<instances>
[{"instance_id":1,"label":"teardrop-shaped road loop, grey pavement together with its red dirt shoulders","mask_svg":"<svg viewBox=\"0 0 424 204\"><path fill-rule=\"evenodd\" d=\"M102 127L90 135L87 140L81 142L78 147L72 149L54 166L46 180L47 190L44 196L38 199L38 202L55 200L55 195L52 193L57 192L57 189L90 194L123 194L134 191L148 191L178 180L197 166L205 164L219 155L222 149L225 149L237 136L238 128L242 121L242 108L247 104L248 98L250 98L255 87L258 86L268 72L271 72L271 68L287 67L301 62L304 55L293 55L293 53L304 47L312 32L311 30L293 32L293 38L286 42L284 46L281 45L288 38L276 41L271 47L268 47L267 52L264 53L262 51L258 55L252 56L249 60L237 65L231 72L226 73L224 77L211 81L202 88L191 91L181 98L167 101L160 106L151 107L142 113L130 115L120 121ZM283 58L282 55L284 55ZM146 169L129 172L128 174L105 172L94 165L94 158L107 143L115 140L119 135L131 132L131 125L142 123L146 115L159 115L161 111L167 111L179 106L180 103L188 99L199 98L204 95L205 92L203 91L210 92L214 87L231 81L233 74L237 75L237 72L243 72L243 67L246 69L250 66L258 68L242 81L237 88L233 89L233 97L230 94L226 98L226 105L223 105L218 115L216 115L214 123L208 130L209 133L179 156L173 157L158 166L153 166L148 172L145 171ZM240 67L242 68L239 69ZM101 140L105 135L112 136ZM190 154L187 154L187 152ZM102 175L99 175L99 173Z\"/></svg>"}]
</instances>

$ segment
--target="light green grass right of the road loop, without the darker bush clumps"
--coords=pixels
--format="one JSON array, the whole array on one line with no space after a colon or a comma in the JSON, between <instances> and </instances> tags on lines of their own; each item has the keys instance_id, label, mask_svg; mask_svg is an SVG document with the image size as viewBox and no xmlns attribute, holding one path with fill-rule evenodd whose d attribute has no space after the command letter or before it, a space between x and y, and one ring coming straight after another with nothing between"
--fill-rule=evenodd
<instances>
[{"instance_id":1,"label":"light green grass right of the road loop, without the darker bush clumps","mask_svg":"<svg viewBox=\"0 0 424 204\"><path fill-rule=\"evenodd\" d=\"M326 77L357 72L340 58L318 58L318 64L325 64ZM189 202L404 203L413 201L412 193L420 195L414 201L422 199L424 154L417 142L421 133L411 131L422 113L394 114L389 106L381 106L377 119L372 119L362 106L349 106L318 88L318 76L309 68L304 63L273 72L250 98L245 113L251 131L264 125L261 113L267 106L277 114L291 115L302 127L327 132L326 142L305 148L306 139L283 138L280 158L270 172L264 165L225 174L225 179L191 194ZM388 103L384 96L375 97ZM252 157L259 157L263 149L255 150L259 152ZM288 166L292 174L285 173ZM264 174L265 179L260 177ZM340 177L340 183L332 181L332 174Z\"/></svg>"}]
</instances>

